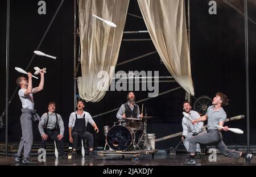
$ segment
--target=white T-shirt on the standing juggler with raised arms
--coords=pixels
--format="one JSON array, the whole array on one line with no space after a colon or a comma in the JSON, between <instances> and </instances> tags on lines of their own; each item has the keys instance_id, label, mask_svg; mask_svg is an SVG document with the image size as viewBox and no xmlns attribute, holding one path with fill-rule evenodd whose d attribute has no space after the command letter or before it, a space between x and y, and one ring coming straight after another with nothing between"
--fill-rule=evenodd
<instances>
[{"instance_id":1,"label":"white T-shirt on the standing juggler with raised arms","mask_svg":"<svg viewBox=\"0 0 256 177\"><path fill-rule=\"evenodd\" d=\"M22 102L22 108L25 109L32 109L34 110L34 99L33 99L33 92L35 88L32 88L32 93L28 95L24 95L26 88L20 88L18 94L19 94L19 99Z\"/></svg>"}]
</instances>

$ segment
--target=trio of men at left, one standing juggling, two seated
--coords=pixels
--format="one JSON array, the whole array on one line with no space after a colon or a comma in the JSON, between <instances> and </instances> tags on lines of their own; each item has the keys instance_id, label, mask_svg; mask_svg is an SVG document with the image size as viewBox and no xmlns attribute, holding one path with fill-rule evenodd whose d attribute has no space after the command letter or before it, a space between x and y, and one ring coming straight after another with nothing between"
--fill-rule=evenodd
<instances>
[{"instance_id":1,"label":"trio of men at left, one standing juggling, two seated","mask_svg":"<svg viewBox=\"0 0 256 177\"><path fill-rule=\"evenodd\" d=\"M64 153L64 123L59 114L55 112L56 104L54 102L48 103L48 112L44 113L42 117L36 113L34 109L33 95L36 92L43 90L44 87L44 72L40 71L40 83L38 87L32 88L32 74L28 73L28 79L19 77L16 83L20 86L18 92L20 101L22 103L22 115L20 116L20 124L22 128L22 137L20 138L19 149L15 162L35 165L35 162L30 160L31 148L33 143L32 121L39 120L38 129L42 136L41 147L46 149L46 141L51 139L59 144L59 158L67 159L68 156ZM90 123L94 130L98 133L98 127L93 121L92 116L84 111L84 100L77 101L77 111L72 112L69 116L68 130L69 141L73 144L72 158L77 156L77 145L79 138L86 138L89 143L89 157L94 158L93 155L93 134L87 131L87 124ZM57 126L60 132L57 131ZM23 158L22 158L23 150Z\"/></svg>"}]
</instances>

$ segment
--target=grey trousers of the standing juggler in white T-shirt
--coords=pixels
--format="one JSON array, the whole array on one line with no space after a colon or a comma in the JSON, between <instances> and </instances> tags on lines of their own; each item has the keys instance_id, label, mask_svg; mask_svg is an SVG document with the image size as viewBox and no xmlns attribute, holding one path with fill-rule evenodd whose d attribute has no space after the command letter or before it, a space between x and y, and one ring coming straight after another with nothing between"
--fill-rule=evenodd
<instances>
[{"instance_id":1,"label":"grey trousers of the standing juggler in white T-shirt","mask_svg":"<svg viewBox=\"0 0 256 177\"><path fill-rule=\"evenodd\" d=\"M22 156L22 149L24 147L24 158L29 158L31 153L31 148L33 144L33 131L32 131L32 121L36 120L38 115L35 110L22 108L22 115L20 116L20 124L22 127L22 137L19 142L19 149L17 155Z\"/></svg>"}]
</instances>

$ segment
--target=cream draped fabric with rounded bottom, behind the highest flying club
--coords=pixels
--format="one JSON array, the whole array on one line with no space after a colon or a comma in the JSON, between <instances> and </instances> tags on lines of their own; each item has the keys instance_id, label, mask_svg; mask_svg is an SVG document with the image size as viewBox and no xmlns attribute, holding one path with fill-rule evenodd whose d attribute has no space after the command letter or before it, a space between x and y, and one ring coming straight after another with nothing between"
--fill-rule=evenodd
<instances>
[{"instance_id":1,"label":"cream draped fabric with rounded bottom, behind the highest flying club","mask_svg":"<svg viewBox=\"0 0 256 177\"><path fill-rule=\"evenodd\" d=\"M79 1L82 77L78 78L77 85L80 98L86 102L100 101L109 88L117 64L128 5L129 0ZM110 27L92 14L113 22L117 27Z\"/></svg>"}]
</instances>

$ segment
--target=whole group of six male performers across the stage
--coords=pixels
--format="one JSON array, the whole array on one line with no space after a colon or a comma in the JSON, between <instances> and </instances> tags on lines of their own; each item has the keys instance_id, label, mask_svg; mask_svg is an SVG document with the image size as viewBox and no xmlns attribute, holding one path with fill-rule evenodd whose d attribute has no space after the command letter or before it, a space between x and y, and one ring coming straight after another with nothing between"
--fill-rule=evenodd
<instances>
[{"instance_id":1,"label":"whole group of six male performers across the stage","mask_svg":"<svg viewBox=\"0 0 256 177\"><path fill-rule=\"evenodd\" d=\"M38 128L42 136L41 147L46 148L46 141L48 139L55 140L59 144L60 158L68 158L64 153L64 123L59 114L55 112L56 104L54 102L48 103L48 112L44 113L42 117L36 113L34 109L33 94L43 90L44 87L44 72L40 71L41 79L38 87L32 88L32 74L28 73L28 79L19 77L16 83L20 86L18 92L20 101L22 102L22 115L20 116L20 124L22 127L22 137L20 138L19 149L16 162L24 164L36 164L30 160L31 147L33 142L32 121L39 120ZM245 154L240 151L228 150L222 141L221 131L228 131L228 126L224 128L217 128L216 125L221 127L226 120L226 112L222 108L228 105L228 98L221 92L217 92L213 98L212 106L208 107L207 113L204 116L191 109L191 104L188 101L183 103L183 110L192 117L192 122L183 117L182 127L183 134L181 140L185 149L189 153L188 165L195 165L195 158L200 158L200 145L214 144L218 150L226 157L246 159L249 164L253 158L252 154ZM69 141L73 144L72 158L77 157L77 146L79 138L86 138L89 142L89 157L95 157L93 151L93 135L87 131L87 124L91 124L94 130L98 133L98 127L93 121L92 116L84 111L84 100L77 101L77 111L72 112L69 116ZM139 107L135 104L134 92L127 94L127 103L123 104L118 112L117 118L119 120L126 119L126 117L141 118L143 113L140 113ZM208 120L207 130L203 127L203 122ZM197 124L197 125L195 125ZM60 132L57 132L57 125L59 125ZM22 150L23 158L22 158Z\"/></svg>"}]
</instances>

